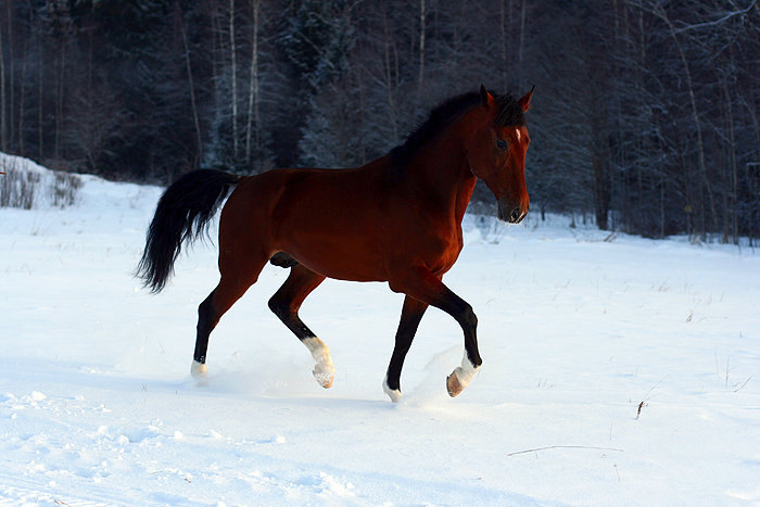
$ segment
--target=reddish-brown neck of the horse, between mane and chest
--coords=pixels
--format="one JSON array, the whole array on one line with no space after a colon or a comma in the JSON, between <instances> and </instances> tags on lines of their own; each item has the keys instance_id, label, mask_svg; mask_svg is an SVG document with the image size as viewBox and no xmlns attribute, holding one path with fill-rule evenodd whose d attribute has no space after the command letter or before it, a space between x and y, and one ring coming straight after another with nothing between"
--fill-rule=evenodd
<instances>
[{"instance_id":1,"label":"reddish-brown neck of the horse, between mane and chest","mask_svg":"<svg viewBox=\"0 0 760 507\"><path fill-rule=\"evenodd\" d=\"M460 224L478 178L469 168L461 136L456 134L452 126L436 142L420 149L409 164L408 177L425 194L431 213L453 213Z\"/></svg>"}]
</instances>

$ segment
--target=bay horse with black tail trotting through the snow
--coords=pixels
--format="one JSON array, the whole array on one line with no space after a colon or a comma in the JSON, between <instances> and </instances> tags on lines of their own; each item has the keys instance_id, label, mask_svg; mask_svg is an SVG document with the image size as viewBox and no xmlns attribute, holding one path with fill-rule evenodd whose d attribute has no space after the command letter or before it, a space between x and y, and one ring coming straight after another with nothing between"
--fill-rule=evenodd
<instances>
[{"instance_id":1,"label":"bay horse with black tail trotting through the snow","mask_svg":"<svg viewBox=\"0 0 760 507\"><path fill-rule=\"evenodd\" d=\"M205 377L210 333L270 262L290 268L290 275L269 308L312 353L322 388L334 377L330 350L304 325L299 308L329 277L388 282L406 295L383 382L393 402L401 400L404 358L428 306L454 317L465 334L465 354L446 388L458 395L482 364L478 319L442 278L461 251L461 219L478 178L496 198L501 220L517 224L528 213L524 112L533 89L516 100L481 85L480 92L452 98L403 144L362 167L255 176L198 169L168 187L137 270L153 292L166 286L182 242L204 233L235 189L219 219L220 280L198 308L192 376Z\"/></svg>"}]
</instances>

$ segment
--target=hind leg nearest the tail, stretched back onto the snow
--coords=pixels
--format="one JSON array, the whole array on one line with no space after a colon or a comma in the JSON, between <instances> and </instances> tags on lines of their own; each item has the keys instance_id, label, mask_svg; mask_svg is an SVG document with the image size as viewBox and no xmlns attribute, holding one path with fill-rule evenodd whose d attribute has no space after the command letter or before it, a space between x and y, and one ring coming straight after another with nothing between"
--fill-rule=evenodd
<instances>
[{"instance_id":1,"label":"hind leg nearest the tail, stretched back onto the snow","mask_svg":"<svg viewBox=\"0 0 760 507\"><path fill-rule=\"evenodd\" d=\"M223 251L224 252L224 251ZM195 378L206 375L208 335L221 316L256 282L267 262L267 255L219 254L221 279L211 294L198 307L198 333L190 372Z\"/></svg>"}]
</instances>

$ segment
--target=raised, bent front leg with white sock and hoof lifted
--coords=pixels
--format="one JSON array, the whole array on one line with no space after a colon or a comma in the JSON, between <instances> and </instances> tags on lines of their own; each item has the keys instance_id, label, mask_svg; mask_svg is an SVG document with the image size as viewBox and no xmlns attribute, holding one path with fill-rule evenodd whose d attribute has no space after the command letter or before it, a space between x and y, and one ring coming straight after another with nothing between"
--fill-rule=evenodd
<instances>
[{"instance_id":1,"label":"raised, bent front leg with white sock and hoof lifted","mask_svg":"<svg viewBox=\"0 0 760 507\"><path fill-rule=\"evenodd\" d=\"M458 395L472 381L483 360L478 351L478 317L472 307L452 292L439 277L426 268L418 267L390 282L391 290L404 292L423 303L435 306L454 317L465 333L465 356L461 365L446 378L451 396Z\"/></svg>"}]
</instances>

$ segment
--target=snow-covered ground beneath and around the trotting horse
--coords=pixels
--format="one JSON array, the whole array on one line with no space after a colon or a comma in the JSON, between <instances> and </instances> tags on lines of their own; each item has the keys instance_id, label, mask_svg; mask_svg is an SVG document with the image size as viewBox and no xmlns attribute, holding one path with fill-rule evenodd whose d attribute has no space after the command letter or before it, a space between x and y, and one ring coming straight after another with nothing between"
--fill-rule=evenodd
<instances>
[{"instance_id":1,"label":"snow-covered ground beneath and around the trotting horse","mask_svg":"<svg viewBox=\"0 0 760 507\"><path fill-rule=\"evenodd\" d=\"M2 176L0 176L2 177ZM159 295L132 278L161 189L84 178L79 204L0 210L0 503L760 503L760 253L468 216L445 281L480 319L422 320L392 404L403 297L327 281L302 317L330 390L266 301L268 266L189 375L217 280L198 244ZM605 241L607 239L608 241Z\"/></svg>"}]
</instances>

